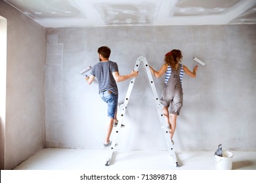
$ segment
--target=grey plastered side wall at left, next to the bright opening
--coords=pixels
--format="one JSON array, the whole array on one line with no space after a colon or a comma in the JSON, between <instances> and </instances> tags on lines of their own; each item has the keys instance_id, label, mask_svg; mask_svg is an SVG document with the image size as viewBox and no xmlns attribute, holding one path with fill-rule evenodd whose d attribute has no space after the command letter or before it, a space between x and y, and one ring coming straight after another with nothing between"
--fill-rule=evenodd
<instances>
[{"instance_id":1,"label":"grey plastered side wall at left, next to the bright opening","mask_svg":"<svg viewBox=\"0 0 256 183\"><path fill-rule=\"evenodd\" d=\"M12 169L45 142L45 29L0 1L7 19L5 169Z\"/></svg>"}]
</instances>

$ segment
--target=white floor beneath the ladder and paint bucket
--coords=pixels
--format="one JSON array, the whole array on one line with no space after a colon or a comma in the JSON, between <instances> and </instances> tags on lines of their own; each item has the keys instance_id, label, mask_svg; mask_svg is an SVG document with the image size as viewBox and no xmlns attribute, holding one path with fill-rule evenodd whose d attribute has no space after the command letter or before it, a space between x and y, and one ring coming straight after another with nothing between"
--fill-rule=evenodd
<instances>
[{"instance_id":1,"label":"white floor beneath the ladder and paint bucket","mask_svg":"<svg viewBox=\"0 0 256 183\"><path fill-rule=\"evenodd\" d=\"M108 150L44 148L14 170L215 170L214 152L176 152L176 167L168 151L116 150L105 166ZM233 170L256 170L256 152L232 152Z\"/></svg>"}]
</instances>

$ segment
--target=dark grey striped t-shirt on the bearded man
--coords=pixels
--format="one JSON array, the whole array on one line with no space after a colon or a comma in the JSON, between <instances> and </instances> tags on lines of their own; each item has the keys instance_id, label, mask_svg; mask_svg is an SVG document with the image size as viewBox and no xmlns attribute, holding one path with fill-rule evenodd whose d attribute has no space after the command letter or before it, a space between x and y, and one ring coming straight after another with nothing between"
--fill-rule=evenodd
<instances>
[{"instance_id":1,"label":"dark grey striped t-shirt on the bearded man","mask_svg":"<svg viewBox=\"0 0 256 183\"><path fill-rule=\"evenodd\" d=\"M91 75L98 80L98 91L104 92L110 90L118 94L116 80L112 73L118 72L117 63L114 61L100 61L91 70Z\"/></svg>"}]
</instances>

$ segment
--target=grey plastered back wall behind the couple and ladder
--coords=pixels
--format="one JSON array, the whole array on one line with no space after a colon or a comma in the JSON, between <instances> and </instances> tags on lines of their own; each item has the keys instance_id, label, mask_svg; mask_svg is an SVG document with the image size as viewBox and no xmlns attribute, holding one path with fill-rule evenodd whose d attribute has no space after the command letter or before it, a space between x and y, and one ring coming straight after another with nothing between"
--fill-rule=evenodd
<instances>
[{"instance_id":1,"label":"grey plastered back wall behind the couple and ladder","mask_svg":"<svg viewBox=\"0 0 256 183\"><path fill-rule=\"evenodd\" d=\"M184 106L177 120L177 150L256 150L256 25L138 26L47 29L45 75L46 146L101 148L106 104L98 85L89 86L79 71L98 63L96 50L107 45L110 60L126 75L139 56L160 69L172 49L183 52L192 69L194 57L206 63L196 78L184 76ZM154 78L158 93L163 79ZM119 103L129 81L120 82ZM152 91L140 67L117 149L166 150Z\"/></svg>"}]
</instances>

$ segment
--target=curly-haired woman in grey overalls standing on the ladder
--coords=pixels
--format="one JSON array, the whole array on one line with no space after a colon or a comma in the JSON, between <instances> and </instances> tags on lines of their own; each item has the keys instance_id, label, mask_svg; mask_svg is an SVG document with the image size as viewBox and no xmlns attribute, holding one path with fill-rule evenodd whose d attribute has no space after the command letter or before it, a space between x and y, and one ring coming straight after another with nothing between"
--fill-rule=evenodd
<instances>
[{"instance_id":1,"label":"curly-haired woman in grey overalls standing on the ladder","mask_svg":"<svg viewBox=\"0 0 256 183\"><path fill-rule=\"evenodd\" d=\"M171 141L173 142L177 116L179 116L183 103L182 78L184 73L195 78L198 66L194 67L192 72L188 67L182 65L181 50L171 50L171 52L165 54L164 61L165 63L159 71L155 71L152 67L150 67L150 71L156 78L160 78L165 73L165 86L161 93L160 101L163 104L163 114L171 133Z\"/></svg>"}]
</instances>

